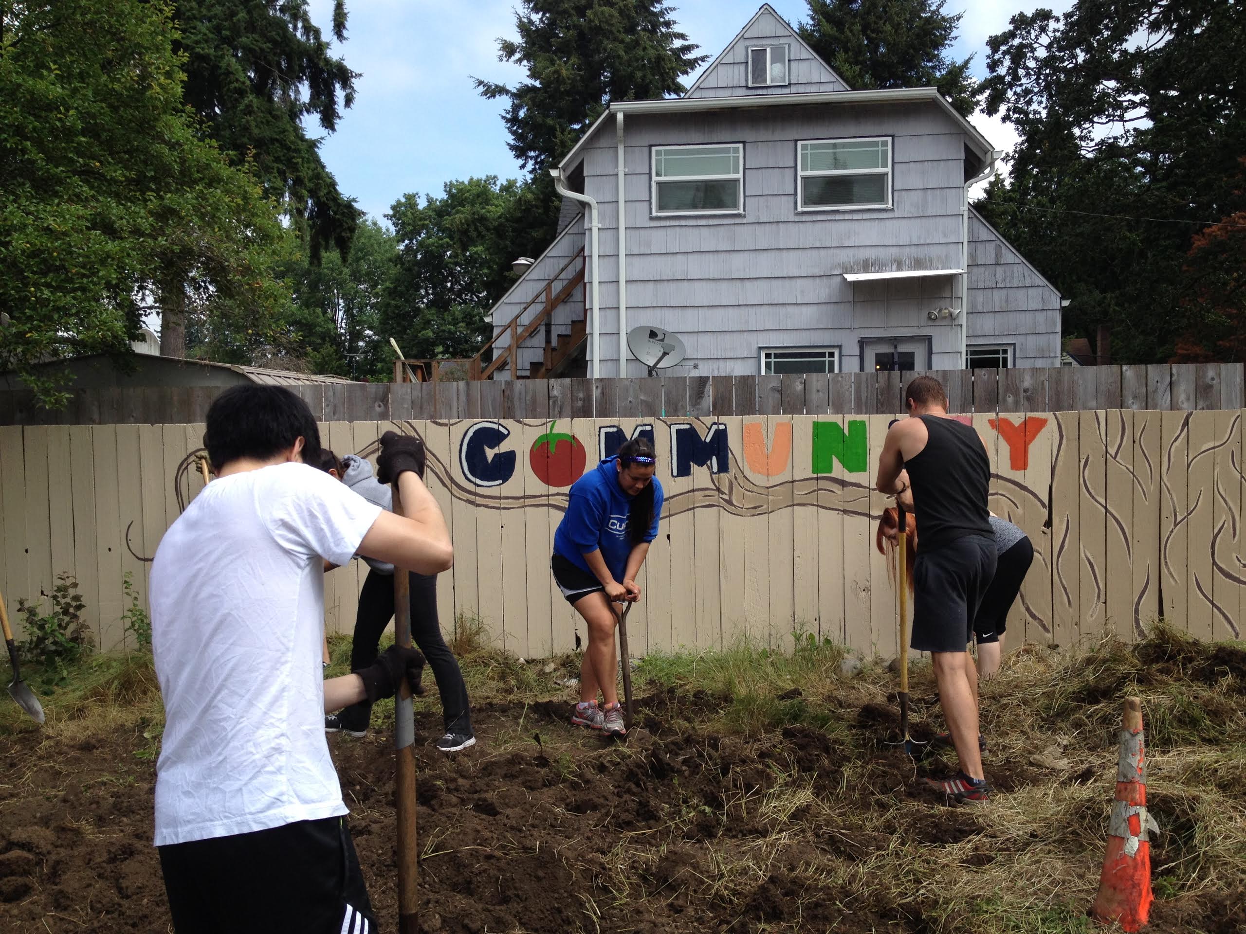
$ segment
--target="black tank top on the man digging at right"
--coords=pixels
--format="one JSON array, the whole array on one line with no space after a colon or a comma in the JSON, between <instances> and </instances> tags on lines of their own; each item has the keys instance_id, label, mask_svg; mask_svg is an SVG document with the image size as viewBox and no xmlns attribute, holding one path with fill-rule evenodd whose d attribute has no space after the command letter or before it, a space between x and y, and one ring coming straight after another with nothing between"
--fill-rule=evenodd
<instances>
[{"instance_id":1,"label":"black tank top on the man digging at right","mask_svg":"<svg viewBox=\"0 0 1246 934\"><path fill-rule=\"evenodd\" d=\"M991 538L991 461L982 438L952 418L918 417L930 440L921 453L905 462L913 484L918 548L938 547L962 535Z\"/></svg>"}]
</instances>

